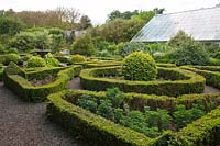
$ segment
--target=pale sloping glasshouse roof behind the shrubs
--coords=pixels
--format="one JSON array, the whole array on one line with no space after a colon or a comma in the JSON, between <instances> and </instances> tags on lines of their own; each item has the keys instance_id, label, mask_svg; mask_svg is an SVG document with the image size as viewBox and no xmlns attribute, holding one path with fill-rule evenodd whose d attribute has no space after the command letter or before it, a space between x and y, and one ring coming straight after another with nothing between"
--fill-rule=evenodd
<instances>
[{"instance_id":1,"label":"pale sloping glasshouse roof behind the shrubs","mask_svg":"<svg viewBox=\"0 0 220 146\"><path fill-rule=\"evenodd\" d=\"M220 7L157 14L132 42L167 42L183 30L197 41L220 41Z\"/></svg>"}]
</instances>

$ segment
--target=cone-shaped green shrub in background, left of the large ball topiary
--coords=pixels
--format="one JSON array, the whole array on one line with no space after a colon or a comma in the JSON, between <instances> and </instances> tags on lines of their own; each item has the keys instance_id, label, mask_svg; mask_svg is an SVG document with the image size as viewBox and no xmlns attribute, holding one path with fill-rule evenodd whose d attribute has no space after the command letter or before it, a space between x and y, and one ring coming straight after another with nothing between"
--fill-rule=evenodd
<instances>
[{"instance_id":1,"label":"cone-shaped green shrub in background, left of the large ball topiary","mask_svg":"<svg viewBox=\"0 0 220 146\"><path fill-rule=\"evenodd\" d=\"M76 38L70 48L70 54L80 54L91 56L95 53L95 46L91 36L84 34Z\"/></svg>"}]
</instances>

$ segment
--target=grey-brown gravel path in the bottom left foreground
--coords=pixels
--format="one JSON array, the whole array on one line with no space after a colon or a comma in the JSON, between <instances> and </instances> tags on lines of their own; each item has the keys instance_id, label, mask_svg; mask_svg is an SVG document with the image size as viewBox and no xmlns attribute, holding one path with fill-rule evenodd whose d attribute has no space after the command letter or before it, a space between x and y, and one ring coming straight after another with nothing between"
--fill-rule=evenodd
<instances>
[{"instance_id":1,"label":"grey-brown gravel path in the bottom left foreground","mask_svg":"<svg viewBox=\"0 0 220 146\"><path fill-rule=\"evenodd\" d=\"M0 83L0 146L82 146L51 123L45 103L20 100Z\"/></svg>"}]
</instances>

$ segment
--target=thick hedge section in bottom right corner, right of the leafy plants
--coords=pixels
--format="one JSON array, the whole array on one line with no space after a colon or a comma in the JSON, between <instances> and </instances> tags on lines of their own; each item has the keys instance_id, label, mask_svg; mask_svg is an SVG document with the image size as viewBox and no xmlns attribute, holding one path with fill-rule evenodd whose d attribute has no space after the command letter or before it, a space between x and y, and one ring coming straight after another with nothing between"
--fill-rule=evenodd
<instances>
[{"instance_id":1,"label":"thick hedge section in bottom right corner, right of the leafy plants","mask_svg":"<svg viewBox=\"0 0 220 146\"><path fill-rule=\"evenodd\" d=\"M188 124L173 138L175 146L217 146L220 138L220 106Z\"/></svg>"}]
</instances>

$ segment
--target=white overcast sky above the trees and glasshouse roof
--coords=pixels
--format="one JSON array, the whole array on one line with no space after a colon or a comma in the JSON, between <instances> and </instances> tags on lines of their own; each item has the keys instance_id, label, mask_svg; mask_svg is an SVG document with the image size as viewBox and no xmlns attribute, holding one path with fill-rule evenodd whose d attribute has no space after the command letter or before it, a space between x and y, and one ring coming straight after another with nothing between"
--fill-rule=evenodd
<instances>
[{"instance_id":1,"label":"white overcast sky above the trees and glasshouse roof","mask_svg":"<svg viewBox=\"0 0 220 146\"><path fill-rule=\"evenodd\" d=\"M89 15L92 23L103 23L107 15L113 10L153 10L165 8L165 13L210 8L220 3L220 0L0 0L0 9L12 8L23 10L53 10L57 7L73 7Z\"/></svg>"}]
</instances>

